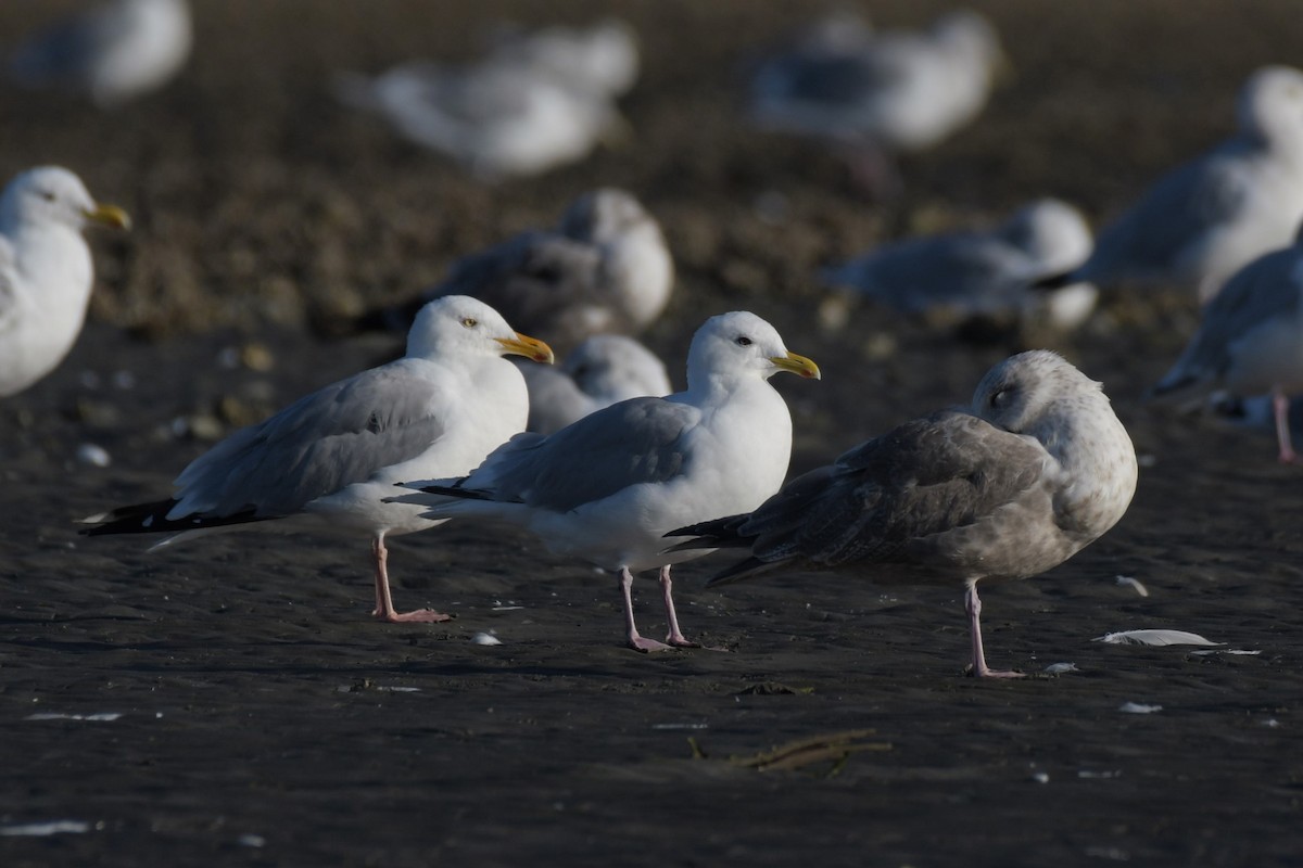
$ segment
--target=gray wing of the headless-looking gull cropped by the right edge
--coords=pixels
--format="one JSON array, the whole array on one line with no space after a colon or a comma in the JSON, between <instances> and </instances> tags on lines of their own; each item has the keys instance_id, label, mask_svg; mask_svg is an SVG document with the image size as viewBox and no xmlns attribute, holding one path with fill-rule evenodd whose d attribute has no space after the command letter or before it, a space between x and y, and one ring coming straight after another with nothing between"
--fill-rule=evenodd
<instances>
[{"instance_id":1,"label":"gray wing of the headless-looking gull cropped by the right edge","mask_svg":"<svg viewBox=\"0 0 1303 868\"><path fill-rule=\"evenodd\" d=\"M1199 332L1154 392L1225 376L1234 363L1231 345L1269 320L1296 319L1300 295L1303 254L1298 246L1255 259L1208 303Z\"/></svg>"}]
</instances>

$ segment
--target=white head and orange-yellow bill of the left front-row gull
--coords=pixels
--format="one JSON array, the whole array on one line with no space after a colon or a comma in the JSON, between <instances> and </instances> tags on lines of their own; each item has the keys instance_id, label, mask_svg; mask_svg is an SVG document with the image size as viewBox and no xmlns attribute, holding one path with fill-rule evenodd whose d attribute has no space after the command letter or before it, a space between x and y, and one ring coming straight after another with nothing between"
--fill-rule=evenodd
<instances>
[{"instance_id":1,"label":"white head and orange-yellow bill of the left front-row gull","mask_svg":"<svg viewBox=\"0 0 1303 868\"><path fill-rule=\"evenodd\" d=\"M524 355L551 364L550 346L520 334L502 314L469 295L444 295L420 310L408 332L408 358Z\"/></svg>"}]
</instances>

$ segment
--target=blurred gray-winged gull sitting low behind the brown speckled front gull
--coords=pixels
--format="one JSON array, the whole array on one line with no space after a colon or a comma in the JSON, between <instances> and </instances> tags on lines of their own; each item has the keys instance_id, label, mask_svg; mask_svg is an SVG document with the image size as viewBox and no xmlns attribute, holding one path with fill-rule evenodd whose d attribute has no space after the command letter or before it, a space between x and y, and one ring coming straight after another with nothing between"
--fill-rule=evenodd
<instances>
[{"instance_id":1,"label":"blurred gray-winged gull sitting low behind the brown speckled front gull","mask_svg":"<svg viewBox=\"0 0 1303 868\"><path fill-rule=\"evenodd\" d=\"M823 280L909 314L941 308L964 316L1044 315L1055 328L1071 329L1095 308L1096 288L1072 284L1042 290L1033 284L1080 265L1091 255L1091 229L1076 208L1040 199L990 232L885 245L827 269Z\"/></svg>"}]
</instances>

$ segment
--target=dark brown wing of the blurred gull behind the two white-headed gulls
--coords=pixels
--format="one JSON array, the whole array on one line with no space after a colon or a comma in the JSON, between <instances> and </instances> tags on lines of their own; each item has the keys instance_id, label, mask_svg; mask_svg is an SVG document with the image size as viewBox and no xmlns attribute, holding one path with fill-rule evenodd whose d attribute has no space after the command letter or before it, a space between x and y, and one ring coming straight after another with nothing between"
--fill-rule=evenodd
<instances>
[{"instance_id":1,"label":"dark brown wing of the blurred gull behind the two white-headed gulls","mask_svg":"<svg viewBox=\"0 0 1303 868\"><path fill-rule=\"evenodd\" d=\"M555 233L526 233L453 264L430 297L473 295L513 328L546 334L558 349L590 332L577 308L599 305L601 255Z\"/></svg>"}]
</instances>

